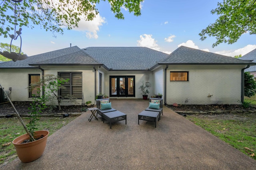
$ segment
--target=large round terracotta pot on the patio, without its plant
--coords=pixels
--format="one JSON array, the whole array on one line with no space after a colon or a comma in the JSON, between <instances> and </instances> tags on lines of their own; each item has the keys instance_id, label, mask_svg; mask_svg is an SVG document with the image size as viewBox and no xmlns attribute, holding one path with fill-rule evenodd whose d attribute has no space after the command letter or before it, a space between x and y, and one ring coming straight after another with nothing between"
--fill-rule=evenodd
<instances>
[{"instance_id":1,"label":"large round terracotta pot on the patio, without its plant","mask_svg":"<svg viewBox=\"0 0 256 170\"><path fill-rule=\"evenodd\" d=\"M33 142L22 143L24 140L29 139L29 136L27 134L24 134L12 141L21 162L32 162L40 158L40 156L42 156L42 154L44 153L49 132L35 131L35 133L35 138L38 138L41 135L44 135L44 137Z\"/></svg>"}]
</instances>

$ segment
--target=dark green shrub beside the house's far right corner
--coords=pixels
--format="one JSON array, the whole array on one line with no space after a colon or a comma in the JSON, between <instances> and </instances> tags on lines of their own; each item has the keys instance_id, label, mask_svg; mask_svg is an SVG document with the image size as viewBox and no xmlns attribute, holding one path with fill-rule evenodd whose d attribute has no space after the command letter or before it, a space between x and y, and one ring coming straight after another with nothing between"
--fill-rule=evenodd
<instances>
[{"instance_id":1,"label":"dark green shrub beside the house's far right corner","mask_svg":"<svg viewBox=\"0 0 256 170\"><path fill-rule=\"evenodd\" d=\"M244 72L244 96L252 97L256 94L256 81L250 72Z\"/></svg>"}]
</instances>

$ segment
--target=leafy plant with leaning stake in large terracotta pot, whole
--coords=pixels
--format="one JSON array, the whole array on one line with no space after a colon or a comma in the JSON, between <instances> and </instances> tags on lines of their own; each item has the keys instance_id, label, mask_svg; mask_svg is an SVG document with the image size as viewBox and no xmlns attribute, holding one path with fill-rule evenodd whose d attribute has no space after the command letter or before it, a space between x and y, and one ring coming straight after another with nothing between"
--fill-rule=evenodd
<instances>
[{"instance_id":1,"label":"leafy plant with leaning stake in large terracotta pot, whole","mask_svg":"<svg viewBox=\"0 0 256 170\"><path fill-rule=\"evenodd\" d=\"M44 86L42 86L42 89L44 89ZM6 94L7 99L14 108L19 121L22 123L22 126L27 132L26 134L21 135L12 141L18 157L24 163L32 162L40 158L40 156L42 156L44 149L46 147L47 137L49 135L49 131L36 131L36 126L39 120L38 117L40 117L40 113L42 113L42 111L47 107L45 102L48 100L48 95L45 94L40 96L40 92L41 90L40 88L38 88L37 96L34 96L33 101L30 104L30 107L28 108L30 110L30 117L28 117L30 121L28 125L25 125L18 111L15 109L10 98Z\"/></svg>"}]
</instances>

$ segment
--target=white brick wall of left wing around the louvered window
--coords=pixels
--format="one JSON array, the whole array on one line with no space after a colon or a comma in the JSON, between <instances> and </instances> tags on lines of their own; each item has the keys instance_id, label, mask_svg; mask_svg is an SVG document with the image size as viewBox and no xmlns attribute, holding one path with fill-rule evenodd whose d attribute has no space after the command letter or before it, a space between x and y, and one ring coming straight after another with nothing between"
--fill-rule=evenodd
<instances>
[{"instance_id":1,"label":"white brick wall of left wing around the louvered window","mask_svg":"<svg viewBox=\"0 0 256 170\"><path fill-rule=\"evenodd\" d=\"M94 101L94 69L92 66L87 67L74 67L74 66L41 66L44 69L44 75L54 74L58 75L58 72L82 72L82 85L84 100ZM10 99L12 101L31 101L28 98L28 74L40 74L42 71L38 68L35 69L1 69L0 83L4 90L8 90L12 87L12 93ZM81 104L82 100L77 100L77 104ZM70 102L62 102L62 105L71 105Z\"/></svg>"}]
</instances>

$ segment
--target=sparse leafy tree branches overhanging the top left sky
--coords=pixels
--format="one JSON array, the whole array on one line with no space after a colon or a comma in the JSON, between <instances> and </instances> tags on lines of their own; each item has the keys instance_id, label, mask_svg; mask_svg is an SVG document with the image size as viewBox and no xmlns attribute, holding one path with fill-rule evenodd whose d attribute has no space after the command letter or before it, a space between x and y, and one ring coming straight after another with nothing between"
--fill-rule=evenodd
<instances>
[{"instance_id":1,"label":"sparse leafy tree branches overhanging the top left sky","mask_svg":"<svg viewBox=\"0 0 256 170\"><path fill-rule=\"evenodd\" d=\"M106 1L106 0L104 0ZM140 16L140 3L143 0L108 0L110 10L118 19L124 19L122 8L134 16ZM63 29L78 27L81 19L93 20L99 13L96 4L100 0L23 0L15 3L12 0L0 2L0 36L8 37L17 26L31 27L41 25L46 31L63 33ZM16 17L14 11L16 4Z\"/></svg>"}]
</instances>

